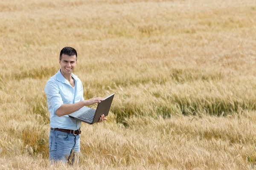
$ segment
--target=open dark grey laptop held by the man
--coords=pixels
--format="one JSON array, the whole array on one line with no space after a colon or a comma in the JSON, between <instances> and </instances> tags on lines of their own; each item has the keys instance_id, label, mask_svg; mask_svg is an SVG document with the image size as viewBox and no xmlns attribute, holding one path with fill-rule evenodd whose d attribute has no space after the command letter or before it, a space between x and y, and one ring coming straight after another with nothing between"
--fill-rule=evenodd
<instances>
[{"instance_id":1,"label":"open dark grey laptop held by the man","mask_svg":"<svg viewBox=\"0 0 256 170\"><path fill-rule=\"evenodd\" d=\"M96 123L99 121L99 118L102 116L102 114L104 114L105 117L108 116L108 112L110 110L114 95L115 94L111 94L110 96L105 98L105 100L100 101L97 105L96 110L84 106L78 111L69 114L68 116L88 124Z\"/></svg>"}]
</instances>

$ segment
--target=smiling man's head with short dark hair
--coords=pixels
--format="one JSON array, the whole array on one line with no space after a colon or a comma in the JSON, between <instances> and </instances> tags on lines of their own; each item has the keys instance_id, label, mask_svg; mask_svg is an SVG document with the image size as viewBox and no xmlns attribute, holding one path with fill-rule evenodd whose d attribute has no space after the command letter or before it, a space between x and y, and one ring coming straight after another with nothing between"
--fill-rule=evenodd
<instances>
[{"instance_id":1,"label":"smiling man's head with short dark hair","mask_svg":"<svg viewBox=\"0 0 256 170\"><path fill-rule=\"evenodd\" d=\"M59 63L62 74L71 74L76 66L77 52L72 47L64 47L60 53Z\"/></svg>"}]
</instances>

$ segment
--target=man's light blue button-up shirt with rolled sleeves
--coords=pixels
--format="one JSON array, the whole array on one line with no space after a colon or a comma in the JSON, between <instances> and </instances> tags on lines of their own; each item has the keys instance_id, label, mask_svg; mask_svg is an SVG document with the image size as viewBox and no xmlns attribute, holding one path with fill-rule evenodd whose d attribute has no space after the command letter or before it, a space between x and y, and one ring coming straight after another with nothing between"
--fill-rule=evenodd
<instances>
[{"instance_id":1,"label":"man's light blue button-up shirt with rolled sleeves","mask_svg":"<svg viewBox=\"0 0 256 170\"><path fill-rule=\"evenodd\" d=\"M47 96L50 126L52 128L77 130L81 126L81 121L72 119L68 115L60 117L56 115L56 111L61 105L74 104L84 100L81 80L74 74L72 74L72 77L75 80L75 88L70 85L60 70L45 85L44 91Z\"/></svg>"}]
</instances>

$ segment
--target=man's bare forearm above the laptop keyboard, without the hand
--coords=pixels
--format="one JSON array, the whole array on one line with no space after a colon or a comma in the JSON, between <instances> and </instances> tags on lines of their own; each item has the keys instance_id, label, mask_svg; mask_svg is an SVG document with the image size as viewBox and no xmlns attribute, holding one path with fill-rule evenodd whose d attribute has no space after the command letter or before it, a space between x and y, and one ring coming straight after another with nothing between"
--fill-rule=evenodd
<instances>
[{"instance_id":1,"label":"man's bare forearm above the laptop keyboard, without the hand","mask_svg":"<svg viewBox=\"0 0 256 170\"><path fill-rule=\"evenodd\" d=\"M56 111L56 115L57 116L64 116L70 113L73 113L77 110L79 110L80 108L82 108L83 106L85 106L86 102L83 100L81 102L77 102L74 104L64 104L61 105L60 108L58 108L58 110Z\"/></svg>"}]
</instances>

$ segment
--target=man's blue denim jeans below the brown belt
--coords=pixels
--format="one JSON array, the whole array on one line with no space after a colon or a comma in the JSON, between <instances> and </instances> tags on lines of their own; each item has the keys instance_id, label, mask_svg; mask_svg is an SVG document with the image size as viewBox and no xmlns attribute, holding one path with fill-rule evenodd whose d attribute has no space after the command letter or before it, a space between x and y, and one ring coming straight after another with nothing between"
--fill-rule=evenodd
<instances>
[{"instance_id":1,"label":"man's blue denim jeans below the brown belt","mask_svg":"<svg viewBox=\"0 0 256 170\"><path fill-rule=\"evenodd\" d=\"M49 161L62 161L64 164L78 164L80 135L50 130Z\"/></svg>"}]
</instances>

